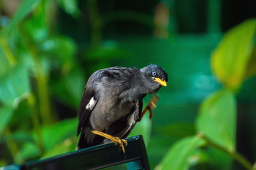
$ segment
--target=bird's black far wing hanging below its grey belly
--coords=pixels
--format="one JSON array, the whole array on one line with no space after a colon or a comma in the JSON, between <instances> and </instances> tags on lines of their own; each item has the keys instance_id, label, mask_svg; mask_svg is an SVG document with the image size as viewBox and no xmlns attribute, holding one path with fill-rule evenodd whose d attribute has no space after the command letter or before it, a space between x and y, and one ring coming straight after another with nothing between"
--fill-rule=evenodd
<instances>
[{"instance_id":1,"label":"bird's black far wing hanging below its grey belly","mask_svg":"<svg viewBox=\"0 0 256 170\"><path fill-rule=\"evenodd\" d=\"M108 134L118 138L126 138L140 119L142 106L142 100L137 101L131 114L120 118L108 127Z\"/></svg>"}]
</instances>

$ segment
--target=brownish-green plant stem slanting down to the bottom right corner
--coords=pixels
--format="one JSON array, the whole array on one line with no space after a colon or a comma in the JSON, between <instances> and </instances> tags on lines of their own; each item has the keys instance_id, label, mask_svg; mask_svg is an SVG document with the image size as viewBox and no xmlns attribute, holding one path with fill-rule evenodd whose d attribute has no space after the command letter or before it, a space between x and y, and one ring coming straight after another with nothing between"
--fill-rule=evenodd
<instances>
[{"instance_id":1,"label":"brownish-green plant stem slanting down to the bottom right corner","mask_svg":"<svg viewBox=\"0 0 256 170\"><path fill-rule=\"evenodd\" d=\"M214 148L217 148L218 150L221 150L221 151L227 153L228 155L230 155L230 157L232 157L234 160L239 162L243 167L245 167L248 170L252 170L252 163L249 162L243 155L236 152L236 150L234 150L234 151L228 150L227 148L225 148L221 145L218 145L217 143L214 143L213 141L211 141L211 139L207 138L204 135L200 135L200 137L205 139L205 141L207 142L208 145L213 146Z\"/></svg>"}]
</instances>

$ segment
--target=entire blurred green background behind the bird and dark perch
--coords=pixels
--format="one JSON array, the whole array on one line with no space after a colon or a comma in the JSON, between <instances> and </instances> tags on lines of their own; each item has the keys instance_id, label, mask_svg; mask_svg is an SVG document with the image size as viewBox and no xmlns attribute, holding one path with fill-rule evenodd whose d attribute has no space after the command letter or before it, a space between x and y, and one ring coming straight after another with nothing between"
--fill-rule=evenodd
<instances>
[{"instance_id":1,"label":"entire blurred green background behind the bird and dark perch","mask_svg":"<svg viewBox=\"0 0 256 170\"><path fill-rule=\"evenodd\" d=\"M146 115L131 134L143 134L150 167L252 169L255 6L1 0L0 166L75 150L77 108L94 71L157 64L168 85L159 90L154 122Z\"/></svg>"}]
</instances>

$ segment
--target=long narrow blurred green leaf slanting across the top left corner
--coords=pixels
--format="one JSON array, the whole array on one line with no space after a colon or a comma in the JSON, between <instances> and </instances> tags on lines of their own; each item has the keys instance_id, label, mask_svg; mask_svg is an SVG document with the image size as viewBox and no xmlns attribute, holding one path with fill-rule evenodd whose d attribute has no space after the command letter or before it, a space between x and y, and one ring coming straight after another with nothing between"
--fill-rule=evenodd
<instances>
[{"instance_id":1,"label":"long narrow blurred green leaf slanting across the top left corner","mask_svg":"<svg viewBox=\"0 0 256 170\"><path fill-rule=\"evenodd\" d=\"M4 29L3 36L10 36L13 29L17 29L19 23L40 3L41 0L24 0L21 2L17 12L13 16L10 23Z\"/></svg>"}]
</instances>

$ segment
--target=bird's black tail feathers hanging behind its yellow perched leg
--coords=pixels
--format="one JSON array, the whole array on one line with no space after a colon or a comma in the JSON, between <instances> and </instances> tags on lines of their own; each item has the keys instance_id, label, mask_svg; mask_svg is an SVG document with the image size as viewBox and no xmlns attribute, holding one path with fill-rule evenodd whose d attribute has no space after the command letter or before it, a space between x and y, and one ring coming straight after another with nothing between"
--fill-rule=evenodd
<instances>
[{"instance_id":1,"label":"bird's black tail feathers hanging behind its yellow perched leg","mask_svg":"<svg viewBox=\"0 0 256 170\"><path fill-rule=\"evenodd\" d=\"M92 133L92 127L84 127L81 131L79 141L77 143L76 150L88 148L90 146L100 145L104 141L102 136L98 136Z\"/></svg>"}]
</instances>

